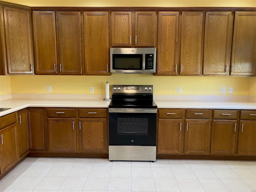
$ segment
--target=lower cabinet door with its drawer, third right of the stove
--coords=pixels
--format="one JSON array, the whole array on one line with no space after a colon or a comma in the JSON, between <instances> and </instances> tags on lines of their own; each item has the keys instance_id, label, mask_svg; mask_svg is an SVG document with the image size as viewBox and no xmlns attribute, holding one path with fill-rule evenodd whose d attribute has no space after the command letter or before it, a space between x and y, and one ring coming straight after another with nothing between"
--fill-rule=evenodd
<instances>
[{"instance_id":1,"label":"lower cabinet door with its drawer, third right of the stove","mask_svg":"<svg viewBox=\"0 0 256 192\"><path fill-rule=\"evenodd\" d=\"M237 117L237 110L213 111L211 154L236 154L239 132Z\"/></svg>"}]
</instances>

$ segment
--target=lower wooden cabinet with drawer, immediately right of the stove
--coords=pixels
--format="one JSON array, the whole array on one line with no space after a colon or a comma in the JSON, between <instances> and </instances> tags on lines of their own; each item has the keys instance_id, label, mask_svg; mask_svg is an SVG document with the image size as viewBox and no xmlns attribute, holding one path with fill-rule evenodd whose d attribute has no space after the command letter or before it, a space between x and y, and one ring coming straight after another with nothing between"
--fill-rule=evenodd
<instances>
[{"instance_id":1,"label":"lower wooden cabinet with drawer, immediately right of the stove","mask_svg":"<svg viewBox=\"0 0 256 192\"><path fill-rule=\"evenodd\" d=\"M182 154L183 110L159 109L157 154Z\"/></svg>"}]
</instances>

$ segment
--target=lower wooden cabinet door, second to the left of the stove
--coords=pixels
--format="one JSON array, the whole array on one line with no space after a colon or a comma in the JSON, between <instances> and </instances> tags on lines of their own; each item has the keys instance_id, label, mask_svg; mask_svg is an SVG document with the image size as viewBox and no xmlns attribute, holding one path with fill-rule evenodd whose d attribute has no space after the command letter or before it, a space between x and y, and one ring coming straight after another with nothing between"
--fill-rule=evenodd
<instances>
[{"instance_id":1,"label":"lower wooden cabinet door, second to the left of the stove","mask_svg":"<svg viewBox=\"0 0 256 192\"><path fill-rule=\"evenodd\" d=\"M75 118L48 118L49 152L76 152L75 121Z\"/></svg>"}]
</instances>

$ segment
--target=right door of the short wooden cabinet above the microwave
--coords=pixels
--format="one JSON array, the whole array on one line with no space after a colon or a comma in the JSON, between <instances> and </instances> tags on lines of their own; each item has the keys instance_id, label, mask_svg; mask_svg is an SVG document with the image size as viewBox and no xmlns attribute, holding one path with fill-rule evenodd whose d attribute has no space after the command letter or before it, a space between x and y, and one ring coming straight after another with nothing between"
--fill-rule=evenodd
<instances>
[{"instance_id":1,"label":"right door of the short wooden cabinet above the microwave","mask_svg":"<svg viewBox=\"0 0 256 192\"><path fill-rule=\"evenodd\" d=\"M135 47L154 47L156 12L135 12Z\"/></svg>"}]
</instances>

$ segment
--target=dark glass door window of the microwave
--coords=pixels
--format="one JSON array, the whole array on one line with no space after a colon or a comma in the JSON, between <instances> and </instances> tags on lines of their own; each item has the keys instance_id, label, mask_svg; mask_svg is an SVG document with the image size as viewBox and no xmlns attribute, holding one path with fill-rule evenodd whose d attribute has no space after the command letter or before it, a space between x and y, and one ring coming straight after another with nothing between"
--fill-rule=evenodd
<instances>
[{"instance_id":1,"label":"dark glass door window of the microwave","mask_svg":"<svg viewBox=\"0 0 256 192\"><path fill-rule=\"evenodd\" d=\"M113 54L113 69L142 70L142 54Z\"/></svg>"}]
</instances>

